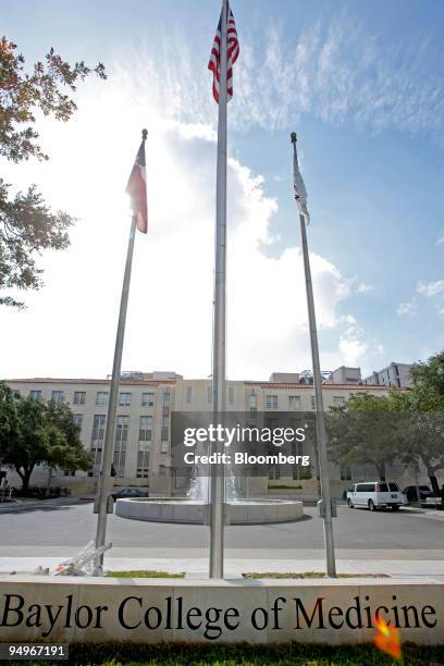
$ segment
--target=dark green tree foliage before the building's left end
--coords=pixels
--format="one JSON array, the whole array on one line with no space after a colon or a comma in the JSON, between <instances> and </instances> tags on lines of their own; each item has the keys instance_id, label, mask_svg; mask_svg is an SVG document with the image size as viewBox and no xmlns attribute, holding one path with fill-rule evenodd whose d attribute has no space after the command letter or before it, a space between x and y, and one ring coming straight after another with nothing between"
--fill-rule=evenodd
<instances>
[{"instance_id":1,"label":"dark green tree foliage before the building's left end","mask_svg":"<svg viewBox=\"0 0 444 666\"><path fill-rule=\"evenodd\" d=\"M17 472L27 490L38 462L61 469L90 469L69 405L22 397L0 383L1 461Z\"/></svg>"}]
</instances>

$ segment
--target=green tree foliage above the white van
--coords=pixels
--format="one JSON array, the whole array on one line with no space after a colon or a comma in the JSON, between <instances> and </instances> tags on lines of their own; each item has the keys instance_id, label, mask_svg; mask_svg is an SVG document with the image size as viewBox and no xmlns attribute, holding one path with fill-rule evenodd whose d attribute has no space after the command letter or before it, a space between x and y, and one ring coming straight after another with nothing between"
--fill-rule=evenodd
<instances>
[{"instance_id":1,"label":"green tree foliage above the white van","mask_svg":"<svg viewBox=\"0 0 444 666\"><path fill-rule=\"evenodd\" d=\"M336 462L372 462L381 479L384 464L395 458L421 461L437 494L435 473L444 469L444 351L416 365L411 377L411 390L355 394L332 408L329 453Z\"/></svg>"}]
</instances>

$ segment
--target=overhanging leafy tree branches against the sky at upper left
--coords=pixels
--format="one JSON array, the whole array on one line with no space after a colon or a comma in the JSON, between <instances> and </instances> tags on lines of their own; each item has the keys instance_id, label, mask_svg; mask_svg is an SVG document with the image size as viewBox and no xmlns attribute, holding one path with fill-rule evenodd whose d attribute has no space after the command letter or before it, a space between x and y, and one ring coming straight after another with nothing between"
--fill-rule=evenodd
<instances>
[{"instance_id":1,"label":"overhanging leafy tree branches against the sky at upper left","mask_svg":"<svg viewBox=\"0 0 444 666\"><path fill-rule=\"evenodd\" d=\"M91 72L106 78L104 67L99 63L90 70L83 61L72 66L51 48L45 64L35 63L28 73L15 49L5 37L0 39L0 156L12 162L47 160L38 144L36 114L69 121L77 109L71 96L77 82ZM66 248L67 230L75 220L62 211L51 212L35 186L14 196L10 189L0 178L0 289L37 289L42 283L36 258L44 249ZM0 305L24 304L0 296Z\"/></svg>"}]
</instances>

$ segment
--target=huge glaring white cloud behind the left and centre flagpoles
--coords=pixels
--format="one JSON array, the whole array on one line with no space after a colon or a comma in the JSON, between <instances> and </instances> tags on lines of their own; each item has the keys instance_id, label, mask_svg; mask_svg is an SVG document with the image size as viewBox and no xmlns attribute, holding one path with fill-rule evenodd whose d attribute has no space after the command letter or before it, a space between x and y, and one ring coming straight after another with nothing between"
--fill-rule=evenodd
<instances>
[{"instance_id":1,"label":"huge glaring white cloud behind the left and centre flagpoles","mask_svg":"<svg viewBox=\"0 0 444 666\"><path fill-rule=\"evenodd\" d=\"M26 295L28 310L2 311L3 377L111 371L130 226L123 189L144 126L149 231L136 239L123 368L211 372L215 136L209 123L165 119L165 96L175 99L174 71L160 89L156 70L148 74L153 78L145 73L143 87L137 70L134 77L121 70L106 85L87 84L74 121L42 124L51 160L9 168L14 182L37 182L54 208L81 221L67 251L44 257L47 286ZM173 115L180 111L176 100ZM264 379L274 369L309 366L300 251L261 252L273 243L269 226L278 203L239 160L229 160L227 175L229 375ZM351 281L316 254L311 268L319 330L333 341L323 359L359 365L379 353L342 313Z\"/></svg>"}]
</instances>

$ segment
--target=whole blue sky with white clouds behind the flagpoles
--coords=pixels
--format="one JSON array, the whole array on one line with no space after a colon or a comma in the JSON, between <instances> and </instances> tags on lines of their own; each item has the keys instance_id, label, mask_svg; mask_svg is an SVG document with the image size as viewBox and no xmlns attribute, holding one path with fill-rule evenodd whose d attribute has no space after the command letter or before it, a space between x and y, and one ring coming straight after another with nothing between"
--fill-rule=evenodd
<instances>
[{"instance_id":1,"label":"whole blue sky with white clouds behind the flagpoles","mask_svg":"<svg viewBox=\"0 0 444 666\"><path fill-rule=\"evenodd\" d=\"M227 377L310 367L289 133L298 136L321 366L442 350L444 4L232 0L240 54L229 103ZM211 374L218 107L207 70L219 0L3 0L30 65L53 46L104 63L69 123L38 119L46 163L3 161L77 218L45 252L45 286L2 308L0 377L111 372L131 223L126 181L148 128L149 231L138 234L124 370Z\"/></svg>"}]
</instances>

